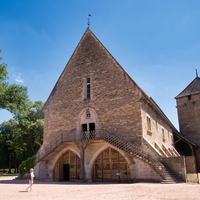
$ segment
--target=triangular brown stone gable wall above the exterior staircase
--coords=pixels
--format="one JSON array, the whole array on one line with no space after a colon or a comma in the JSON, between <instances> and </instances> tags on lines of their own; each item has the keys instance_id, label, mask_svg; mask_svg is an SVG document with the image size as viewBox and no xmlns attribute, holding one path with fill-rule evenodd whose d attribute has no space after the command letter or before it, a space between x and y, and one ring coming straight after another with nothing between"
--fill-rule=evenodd
<instances>
[{"instance_id":1,"label":"triangular brown stone gable wall above the exterior staircase","mask_svg":"<svg viewBox=\"0 0 200 200\"><path fill-rule=\"evenodd\" d=\"M85 98L88 77L89 100ZM44 144L62 132L77 130L80 113L91 108L97 114L95 123L99 128L140 145L141 95L138 86L96 37L86 32L43 109Z\"/></svg>"}]
</instances>

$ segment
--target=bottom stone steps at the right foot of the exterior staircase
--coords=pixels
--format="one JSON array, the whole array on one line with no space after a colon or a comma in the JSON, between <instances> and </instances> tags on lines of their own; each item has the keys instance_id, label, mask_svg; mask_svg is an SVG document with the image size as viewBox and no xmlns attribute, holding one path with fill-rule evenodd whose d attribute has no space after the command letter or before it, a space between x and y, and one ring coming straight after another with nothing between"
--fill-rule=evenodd
<instances>
[{"instance_id":1,"label":"bottom stone steps at the right foot of the exterior staircase","mask_svg":"<svg viewBox=\"0 0 200 200\"><path fill-rule=\"evenodd\" d=\"M161 181L161 184L174 184L174 183L184 183L185 182L176 173L174 173L169 167L164 166L163 171L165 174L165 179L163 179Z\"/></svg>"}]
</instances>

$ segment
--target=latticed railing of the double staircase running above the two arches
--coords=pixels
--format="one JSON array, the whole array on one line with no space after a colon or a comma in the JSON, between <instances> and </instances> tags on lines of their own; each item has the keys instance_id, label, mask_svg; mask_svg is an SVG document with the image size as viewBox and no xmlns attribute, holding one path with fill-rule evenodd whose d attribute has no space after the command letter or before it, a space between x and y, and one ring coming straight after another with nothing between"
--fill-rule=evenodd
<instances>
[{"instance_id":1,"label":"latticed railing of the double staircase running above the two arches","mask_svg":"<svg viewBox=\"0 0 200 200\"><path fill-rule=\"evenodd\" d=\"M125 151L131 156L143 160L149 166L151 166L161 176L162 179L165 179L164 171L161 169L163 164L159 160L156 160L149 154L146 154L141 148L135 146L134 144L127 142L115 134L102 129L85 132L71 131L68 133L62 133L54 138L48 145L39 149L36 154L35 162L38 163L39 161L45 159L48 157L48 155L52 154L54 150L58 149L62 144L66 142L82 142L87 145L87 143L94 140L104 140L111 145Z\"/></svg>"}]
</instances>

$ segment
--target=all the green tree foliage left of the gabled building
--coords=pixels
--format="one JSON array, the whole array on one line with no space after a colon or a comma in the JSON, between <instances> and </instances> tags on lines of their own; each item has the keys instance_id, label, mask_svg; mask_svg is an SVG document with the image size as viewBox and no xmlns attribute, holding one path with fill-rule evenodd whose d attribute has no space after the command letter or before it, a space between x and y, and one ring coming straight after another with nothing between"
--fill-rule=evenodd
<instances>
[{"instance_id":1,"label":"all the green tree foliage left of the gabled building","mask_svg":"<svg viewBox=\"0 0 200 200\"><path fill-rule=\"evenodd\" d=\"M0 51L1 52L1 51ZM0 64L0 109L13 119L0 124L0 168L17 168L36 154L42 144L44 117L42 101L31 102L24 86L9 84L5 64Z\"/></svg>"}]
</instances>

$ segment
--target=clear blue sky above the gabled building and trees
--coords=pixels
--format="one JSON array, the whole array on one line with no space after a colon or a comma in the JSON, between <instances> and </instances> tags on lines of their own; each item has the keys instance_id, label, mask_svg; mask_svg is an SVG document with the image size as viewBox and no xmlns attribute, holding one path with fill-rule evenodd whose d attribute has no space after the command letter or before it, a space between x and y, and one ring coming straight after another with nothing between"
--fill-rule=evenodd
<instances>
[{"instance_id":1,"label":"clear blue sky above the gabled building and trees","mask_svg":"<svg viewBox=\"0 0 200 200\"><path fill-rule=\"evenodd\" d=\"M46 101L87 28L178 127L178 95L200 74L198 0L0 0L9 82ZM0 110L0 122L11 115Z\"/></svg>"}]
</instances>

